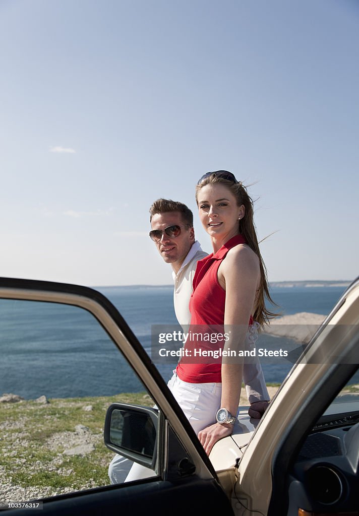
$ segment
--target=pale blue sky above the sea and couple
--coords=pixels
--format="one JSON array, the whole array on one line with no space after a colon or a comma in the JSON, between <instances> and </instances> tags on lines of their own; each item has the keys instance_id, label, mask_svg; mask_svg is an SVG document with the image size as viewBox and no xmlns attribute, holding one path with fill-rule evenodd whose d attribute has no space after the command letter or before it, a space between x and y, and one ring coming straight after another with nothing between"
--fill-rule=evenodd
<instances>
[{"instance_id":1,"label":"pale blue sky above the sea and couple","mask_svg":"<svg viewBox=\"0 0 359 516\"><path fill-rule=\"evenodd\" d=\"M0 276L171 284L149 207L249 185L268 279L359 275L359 1L0 0Z\"/></svg>"}]
</instances>

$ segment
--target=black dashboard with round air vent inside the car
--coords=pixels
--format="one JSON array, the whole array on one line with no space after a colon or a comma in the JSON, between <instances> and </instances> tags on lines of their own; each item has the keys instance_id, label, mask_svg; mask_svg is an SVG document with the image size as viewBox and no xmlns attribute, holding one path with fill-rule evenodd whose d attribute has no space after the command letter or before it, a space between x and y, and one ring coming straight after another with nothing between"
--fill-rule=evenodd
<instances>
[{"instance_id":1,"label":"black dashboard with round air vent inside the car","mask_svg":"<svg viewBox=\"0 0 359 516\"><path fill-rule=\"evenodd\" d=\"M359 410L320 418L293 464L288 493L289 515L359 514Z\"/></svg>"}]
</instances>

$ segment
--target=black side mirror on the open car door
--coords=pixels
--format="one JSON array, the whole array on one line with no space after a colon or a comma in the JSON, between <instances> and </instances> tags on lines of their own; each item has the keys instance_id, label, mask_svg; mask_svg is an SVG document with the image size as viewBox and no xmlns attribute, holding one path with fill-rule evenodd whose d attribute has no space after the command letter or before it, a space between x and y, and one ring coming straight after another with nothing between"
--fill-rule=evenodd
<instances>
[{"instance_id":1,"label":"black side mirror on the open car door","mask_svg":"<svg viewBox=\"0 0 359 516\"><path fill-rule=\"evenodd\" d=\"M105 418L105 445L115 453L154 470L159 421L158 409L113 403L108 407Z\"/></svg>"}]
</instances>

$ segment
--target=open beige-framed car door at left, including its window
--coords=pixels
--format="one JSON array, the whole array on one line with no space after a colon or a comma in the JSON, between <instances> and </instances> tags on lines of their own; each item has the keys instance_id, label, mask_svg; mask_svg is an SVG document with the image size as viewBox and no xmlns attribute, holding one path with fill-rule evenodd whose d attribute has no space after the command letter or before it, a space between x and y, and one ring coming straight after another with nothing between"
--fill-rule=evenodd
<instances>
[{"instance_id":1,"label":"open beige-framed car door at left, including its window","mask_svg":"<svg viewBox=\"0 0 359 516\"><path fill-rule=\"evenodd\" d=\"M25 514L36 510L37 501L43 516L233 513L164 379L102 294L70 284L1 278L0 346L2 508ZM161 417L155 428L155 476L110 485L104 478L107 459L101 455L99 425L107 399L108 405L126 402L124 394L116 394L116 375L135 385L133 395L149 407L155 404ZM86 382L92 397L82 397ZM46 397L41 389L55 394ZM112 455L107 457L110 461ZM51 482L60 486L58 492Z\"/></svg>"}]
</instances>

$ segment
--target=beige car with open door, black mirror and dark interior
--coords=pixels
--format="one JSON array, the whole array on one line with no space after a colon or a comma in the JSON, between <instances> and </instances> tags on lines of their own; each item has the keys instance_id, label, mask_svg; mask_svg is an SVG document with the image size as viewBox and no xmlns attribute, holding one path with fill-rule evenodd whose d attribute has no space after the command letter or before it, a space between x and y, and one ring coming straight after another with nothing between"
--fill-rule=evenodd
<instances>
[{"instance_id":1,"label":"beige car with open door, black mirror and dark interior","mask_svg":"<svg viewBox=\"0 0 359 516\"><path fill-rule=\"evenodd\" d=\"M42 497L41 516L358 514L359 398L346 385L353 383L359 362L359 280L316 332L260 422L241 409L233 435L217 442L210 457L158 369L102 294L2 278L0 299L50 302L92 314L120 351L120 374L126 365L148 392L148 406L116 402L108 408L104 440L154 476ZM1 464L0 456L0 470ZM28 508L5 507L14 514Z\"/></svg>"}]
</instances>

